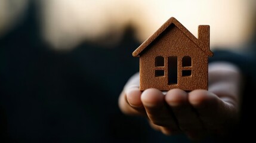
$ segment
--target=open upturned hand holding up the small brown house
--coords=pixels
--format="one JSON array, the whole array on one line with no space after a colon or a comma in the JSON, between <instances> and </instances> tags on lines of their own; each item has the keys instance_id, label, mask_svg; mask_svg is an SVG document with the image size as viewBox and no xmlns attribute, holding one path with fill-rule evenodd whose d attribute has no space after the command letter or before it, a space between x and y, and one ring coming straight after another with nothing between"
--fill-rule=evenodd
<instances>
[{"instance_id":1,"label":"open upturned hand holding up the small brown house","mask_svg":"<svg viewBox=\"0 0 256 143\"><path fill-rule=\"evenodd\" d=\"M129 79L119 97L119 108L128 115L144 116L153 129L166 135L185 133L201 139L224 135L239 120L241 75L230 63L209 64L208 91L139 89L139 74Z\"/></svg>"}]
</instances>

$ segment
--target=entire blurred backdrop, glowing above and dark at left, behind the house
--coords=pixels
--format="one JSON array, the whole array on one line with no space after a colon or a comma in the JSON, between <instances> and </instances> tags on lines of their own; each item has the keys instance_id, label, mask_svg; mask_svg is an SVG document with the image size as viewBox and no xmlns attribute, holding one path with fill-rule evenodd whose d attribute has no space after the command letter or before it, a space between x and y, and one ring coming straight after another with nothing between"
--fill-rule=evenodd
<instances>
[{"instance_id":1,"label":"entire blurred backdrop, glowing above and dark at left, behind the house","mask_svg":"<svg viewBox=\"0 0 256 143\"><path fill-rule=\"evenodd\" d=\"M255 8L254 0L0 0L2 142L186 141L119 111L138 71L132 51L170 17L196 37L209 24L212 51L247 51Z\"/></svg>"}]
</instances>

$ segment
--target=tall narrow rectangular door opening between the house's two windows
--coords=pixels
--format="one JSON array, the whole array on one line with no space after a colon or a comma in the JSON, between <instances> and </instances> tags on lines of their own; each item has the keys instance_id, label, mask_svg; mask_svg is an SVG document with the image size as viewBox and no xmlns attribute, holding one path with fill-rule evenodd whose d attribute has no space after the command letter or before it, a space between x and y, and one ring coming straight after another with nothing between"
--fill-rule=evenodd
<instances>
[{"instance_id":1,"label":"tall narrow rectangular door opening between the house's two windows","mask_svg":"<svg viewBox=\"0 0 256 143\"><path fill-rule=\"evenodd\" d=\"M178 82L178 59L176 56L168 57L168 85L177 85Z\"/></svg>"}]
</instances>

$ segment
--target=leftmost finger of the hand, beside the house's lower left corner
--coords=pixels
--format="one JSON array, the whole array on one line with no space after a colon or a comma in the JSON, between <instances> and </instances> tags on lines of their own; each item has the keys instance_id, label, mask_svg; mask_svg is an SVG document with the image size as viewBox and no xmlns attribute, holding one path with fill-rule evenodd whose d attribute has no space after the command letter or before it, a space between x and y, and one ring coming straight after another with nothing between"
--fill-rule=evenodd
<instances>
[{"instance_id":1,"label":"leftmost finger of the hand, beside the house's lower left corner","mask_svg":"<svg viewBox=\"0 0 256 143\"><path fill-rule=\"evenodd\" d=\"M146 115L143 104L140 100L141 91L135 86L130 86L124 90L119 97L119 108L125 114Z\"/></svg>"}]
</instances>

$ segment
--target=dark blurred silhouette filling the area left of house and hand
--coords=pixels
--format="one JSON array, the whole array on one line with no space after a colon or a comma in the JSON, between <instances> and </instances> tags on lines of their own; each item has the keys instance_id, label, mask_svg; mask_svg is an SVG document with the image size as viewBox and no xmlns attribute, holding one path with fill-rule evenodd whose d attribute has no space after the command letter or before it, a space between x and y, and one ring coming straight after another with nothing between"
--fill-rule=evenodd
<instances>
[{"instance_id":1,"label":"dark blurred silhouette filling the area left of house and hand","mask_svg":"<svg viewBox=\"0 0 256 143\"><path fill-rule=\"evenodd\" d=\"M42 41L36 14L32 2L24 21L0 39L0 142L166 139L118 108L119 93L138 70L131 28L113 48L85 42L57 52Z\"/></svg>"}]
</instances>

